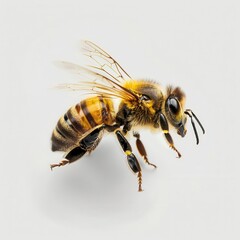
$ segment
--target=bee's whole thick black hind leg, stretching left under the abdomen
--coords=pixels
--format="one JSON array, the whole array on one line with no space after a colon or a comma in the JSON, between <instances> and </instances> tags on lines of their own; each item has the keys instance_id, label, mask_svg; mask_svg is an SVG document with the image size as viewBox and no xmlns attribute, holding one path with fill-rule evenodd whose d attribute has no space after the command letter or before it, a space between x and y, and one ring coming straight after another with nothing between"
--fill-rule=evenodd
<instances>
[{"instance_id":1,"label":"bee's whole thick black hind leg, stretching left under the abdomen","mask_svg":"<svg viewBox=\"0 0 240 240\"><path fill-rule=\"evenodd\" d=\"M101 141L101 138L102 128L97 128L93 130L81 140L78 147L75 147L71 151L69 151L61 162L51 164L51 169L75 162L76 160L80 159L86 152L93 151L97 147L98 143Z\"/></svg>"}]
</instances>

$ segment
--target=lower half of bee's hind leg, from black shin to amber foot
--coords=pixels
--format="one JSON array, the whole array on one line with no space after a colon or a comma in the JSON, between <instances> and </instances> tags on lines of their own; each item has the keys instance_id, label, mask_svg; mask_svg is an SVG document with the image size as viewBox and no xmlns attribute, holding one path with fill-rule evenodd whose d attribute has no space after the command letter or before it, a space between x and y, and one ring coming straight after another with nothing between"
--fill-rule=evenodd
<instances>
[{"instance_id":1,"label":"lower half of bee's hind leg, from black shin to amber foot","mask_svg":"<svg viewBox=\"0 0 240 240\"><path fill-rule=\"evenodd\" d=\"M81 158L86 152L87 152L86 149L83 149L81 147L76 147L72 149L70 152L68 152L61 162L51 164L50 168L52 170L55 167L61 167L66 164L72 163L78 160L79 158Z\"/></svg>"}]
</instances>

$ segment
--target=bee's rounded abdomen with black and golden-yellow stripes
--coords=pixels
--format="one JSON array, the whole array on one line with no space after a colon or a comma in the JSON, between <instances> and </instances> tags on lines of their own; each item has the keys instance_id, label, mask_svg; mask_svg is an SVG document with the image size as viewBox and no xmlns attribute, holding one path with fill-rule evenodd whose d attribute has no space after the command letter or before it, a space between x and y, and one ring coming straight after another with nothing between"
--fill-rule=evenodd
<instances>
[{"instance_id":1,"label":"bee's rounded abdomen with black and golden-yellow stripes","mask_svg":"<svg viewBox=\"0 0 240 240\"><path fill-rule=\"evenodd\" d=\"M111 99L91 97L71 107L58 121L52 133L52 150L68 151L95 128L115 122Z\"/></svg>"}]
</instances>

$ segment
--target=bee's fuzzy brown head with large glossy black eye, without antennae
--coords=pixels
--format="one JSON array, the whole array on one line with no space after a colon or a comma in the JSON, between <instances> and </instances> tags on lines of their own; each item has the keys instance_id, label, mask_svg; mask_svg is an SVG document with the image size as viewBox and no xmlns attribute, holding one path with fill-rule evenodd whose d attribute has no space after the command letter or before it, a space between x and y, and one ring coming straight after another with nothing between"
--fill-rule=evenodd
<instances>
[{"instance_id":1,"label":"bee's fuzzy brown head with large glossy black eye, without antennae","mask_svg":"<svg viewBox=\"0 0 240 240\"><path fill-rule=\"evenodd\" d=\"M179 88L168 87L167 99L165 101L165 112L168 121L177 130L177 133L184 137L186 135L187 117L184 113L185 94Z\"/></svg>"}]
</instances>

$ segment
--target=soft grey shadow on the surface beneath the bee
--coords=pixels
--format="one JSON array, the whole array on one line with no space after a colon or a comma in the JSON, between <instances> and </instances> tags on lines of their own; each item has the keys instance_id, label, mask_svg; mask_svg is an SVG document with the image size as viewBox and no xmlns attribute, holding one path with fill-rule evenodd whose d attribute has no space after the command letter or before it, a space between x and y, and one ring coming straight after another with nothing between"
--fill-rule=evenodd
<instances>
[{"instance_id":1,"label":"soft grey shadow on the surface beneath the bee","mask_svg":"<svg viewBox=\"0 0 240 240\"><path fill-rule=\"evenodd\" d=\"M151 201L148 194L137 192L137 178L111 139L76 163L45 173L39 189L41 211L64 225L83 218L133 221Z\"/></svg>"}]
</instances>

